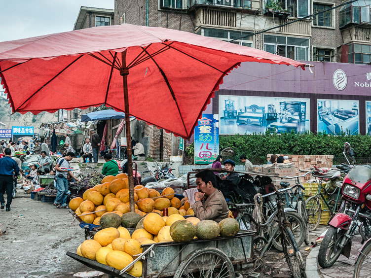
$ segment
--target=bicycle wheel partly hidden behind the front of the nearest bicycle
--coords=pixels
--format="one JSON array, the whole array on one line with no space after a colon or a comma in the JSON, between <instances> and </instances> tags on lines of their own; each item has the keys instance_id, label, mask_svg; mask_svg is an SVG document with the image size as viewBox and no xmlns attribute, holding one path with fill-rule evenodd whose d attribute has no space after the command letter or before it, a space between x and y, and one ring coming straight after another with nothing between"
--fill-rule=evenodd
<instances>
[{"instance_id":1,"label":"bicycle wheel partly hidden behind the front of the nearest bicycle","mask_svg":"<svg viewBox=\"0 0 371 278\"><path fill-rule=\"evenodd\" d=\"M297 246L301 246L305 238L305 223L303 222L300 215L296 211L285 212L285 215L286 215L287 220L290 222L291 231L297 242ZM282 243L281 243L281 231L278 230L277 233L273 235L274 229L278 225L277 221L278 219L276 219L276 222L270 226L269 236L274 237L274 240L272 241L274 248L276 248L279 251L283 251Z\"/></svg>"}]
</instances>

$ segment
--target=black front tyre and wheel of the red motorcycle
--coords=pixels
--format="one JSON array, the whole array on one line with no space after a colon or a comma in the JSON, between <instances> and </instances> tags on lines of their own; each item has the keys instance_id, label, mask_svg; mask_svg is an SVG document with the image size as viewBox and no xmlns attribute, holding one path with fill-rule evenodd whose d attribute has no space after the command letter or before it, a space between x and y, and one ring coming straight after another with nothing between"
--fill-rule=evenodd
<instances>
[{"instance_id":1,"label":"black front tyre and wheel of the red motorcycle","mask_svg":"<svg viewBox=\"0 0 371 278\"><path fill-rule=\"evenodd\" d=\"M335 227L330 227L321 243L318 252L318 264L322 268L331 267L340 256L343 248L339 247L346 231Z\"/></svg>"}]
</instances>

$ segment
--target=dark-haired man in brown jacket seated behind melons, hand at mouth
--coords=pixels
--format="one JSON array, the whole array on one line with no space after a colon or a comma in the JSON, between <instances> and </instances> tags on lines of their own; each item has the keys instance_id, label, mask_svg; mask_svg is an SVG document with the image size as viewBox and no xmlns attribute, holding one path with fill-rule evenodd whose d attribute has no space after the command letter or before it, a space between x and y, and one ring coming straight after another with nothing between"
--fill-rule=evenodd
<instances>
[{"instance_id":1,"label":"dark-haired man in brown jacket seated behind melons, hand at mouth","mask_svg":"<svg viewBox=\"0 0 371 278\"><path fill-rule=\"evenodd\" d=\"M200 220L214 220L220 222L228 217L228 206L223 193L216 189L217 177L210 170L203 170L196 174L198 192L194 193L192 204L194 215ZM202 201L204 201L202 203Z\"/></svg>"}]
</instances>

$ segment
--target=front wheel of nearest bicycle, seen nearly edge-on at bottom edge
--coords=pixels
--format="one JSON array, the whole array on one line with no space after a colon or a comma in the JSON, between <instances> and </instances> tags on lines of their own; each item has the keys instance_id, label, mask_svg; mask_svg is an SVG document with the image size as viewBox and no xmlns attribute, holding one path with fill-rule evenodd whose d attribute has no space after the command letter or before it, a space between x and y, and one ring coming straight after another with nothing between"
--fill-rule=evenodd
<instances>
[{"instance_id":1,"label":"front wheel of nearest bicycle, seen nearly edge-on at bottom edge","mask_svg":"<svg viewBox=\"0 0 371 278\"><path fill-rule=\"evenodd\" d=\"M306 278L304 260L301 256L294 235L289 227L284 227L281 242L286 262L294 278Z\"/></svg>"}]
</instances>

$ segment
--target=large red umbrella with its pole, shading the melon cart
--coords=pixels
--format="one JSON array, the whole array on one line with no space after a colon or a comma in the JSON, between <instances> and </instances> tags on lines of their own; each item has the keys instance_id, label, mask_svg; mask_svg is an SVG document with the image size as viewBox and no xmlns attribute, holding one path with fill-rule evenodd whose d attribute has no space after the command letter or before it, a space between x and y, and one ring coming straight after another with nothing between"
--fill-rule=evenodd
<instances>
[{"instance_id":1,"label":"large red umbrella with its pole, shading the melon cart","mask_svg":"<svg viewBox=\"0 0 371 278\"><path fill-rule=\"evenodd\" d=\"M209 37L129 24L0 43L1 83L13 112L101 104L125 112L132 211L129 116L189 138L223 76L241 62L305 67Z\"/></svg>"}]
</instances>

